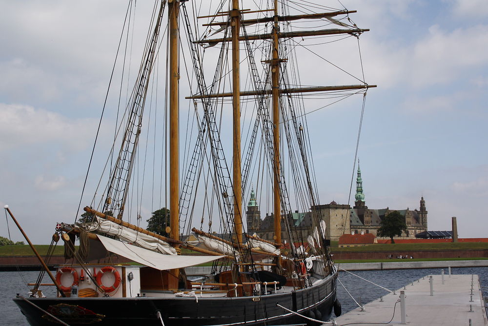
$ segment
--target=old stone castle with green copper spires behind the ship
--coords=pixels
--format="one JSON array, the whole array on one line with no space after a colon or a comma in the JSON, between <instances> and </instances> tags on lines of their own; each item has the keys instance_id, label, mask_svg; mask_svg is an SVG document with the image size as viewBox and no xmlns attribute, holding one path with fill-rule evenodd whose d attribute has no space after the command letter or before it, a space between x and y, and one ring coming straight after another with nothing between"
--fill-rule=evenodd
<instances>
[{"instance_id":1,"label":"old stone castle with green copper spires behind the ship","mask_svg":"<svg viewBox=\"0 0 488 326\"><path fill-rule=\"evenodd\" d=\"M348 204L337 204L332 201L330 204L318 205L316 208L320 216L327 225L327 235L331 241L338 241L343 234L372 233L376 236L380 223L386 215L393 211L398 211L405 217L407 231L403 232L400 239L415 239L415 235L427 231L427 208L424 197L421 197L420 208L390 209L370 209L366 206L365 195L363 193L363 180L361 178L361 168L358 164L356 179L356 201L351 208ZM289 225L294 226L303 240L306 239L311 227L310 212L288 214L282 218L282 230L285 230L285 218ZM256 233L265 240L273 240L273 214L266 214L261 220L261 213L256 201L256 194L251 190L250 200L246 211L247 232ZM285 234L282 234L285 239Z\"/></svg>"}]
</instances>

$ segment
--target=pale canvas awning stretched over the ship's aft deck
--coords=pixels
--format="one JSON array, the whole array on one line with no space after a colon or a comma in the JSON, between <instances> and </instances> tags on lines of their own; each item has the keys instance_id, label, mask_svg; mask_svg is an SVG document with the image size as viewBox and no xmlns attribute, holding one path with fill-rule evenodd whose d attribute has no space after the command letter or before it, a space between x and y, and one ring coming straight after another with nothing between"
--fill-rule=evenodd
<instances>
[{"instance_id":1,"label":"pale canvas awning stretched over the ship's aft deck","mask_svg":"<svg viewBox=\"0 0 488 326\"><path fill-rule=\"evenodd\" d=\"M142 265L156 269L183 268L217 260L225 256L163 255L122 241L97 235L105 249Z\"/></svg>"}]
</instances>

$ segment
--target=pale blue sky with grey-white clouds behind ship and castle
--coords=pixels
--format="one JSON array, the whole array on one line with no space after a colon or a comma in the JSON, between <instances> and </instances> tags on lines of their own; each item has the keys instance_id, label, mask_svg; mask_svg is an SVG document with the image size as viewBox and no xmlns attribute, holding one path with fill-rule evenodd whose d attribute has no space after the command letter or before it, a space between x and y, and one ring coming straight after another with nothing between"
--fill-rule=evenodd
<instances>
[{"instance_id":1,"label":"pale blue sky with grey-white clouds behind ship and castle","mask_svg":"<svg viewBox=\"0 0 488 326\"><path fill-rule=\"evenodd\" d=\"M488 1L342 2L371 30L361 54L366 81L378 85L358 152L366 205L415 209L423 195L430 230L450 230L457 216L460 237L486 237ZM0 5L0 204L45 244L56 222L76 215L126 4ZM309 115L332 131L315 148L322 203L348 202L361 100Z\"/></svg>"}]
</instances>

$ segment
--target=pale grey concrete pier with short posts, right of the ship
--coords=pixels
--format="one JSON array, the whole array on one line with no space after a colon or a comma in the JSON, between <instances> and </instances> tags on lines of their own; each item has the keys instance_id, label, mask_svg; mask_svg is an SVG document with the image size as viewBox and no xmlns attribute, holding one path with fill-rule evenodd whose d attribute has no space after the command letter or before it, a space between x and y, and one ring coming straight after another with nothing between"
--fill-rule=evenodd
<instances>
[{"instance_id":1,"label":"pale grey concrete pier with short posts, right of the ship","mask_svg":"<svg viewBox=\"0 0 488 326\"><path fill-rule=\"evenodd\" d=\"M383 301L366 304L365 311L358 307L340 316L337 325L402 325L403 317L409 326L488 326L478 275L444 276L444 282L442 275L433 275L432 280L432 295L429 277L425 277L395 291L396 294L384 296ZM401 313L400 291L405 291L405 316Z\"/></svg>"}]
</instances>

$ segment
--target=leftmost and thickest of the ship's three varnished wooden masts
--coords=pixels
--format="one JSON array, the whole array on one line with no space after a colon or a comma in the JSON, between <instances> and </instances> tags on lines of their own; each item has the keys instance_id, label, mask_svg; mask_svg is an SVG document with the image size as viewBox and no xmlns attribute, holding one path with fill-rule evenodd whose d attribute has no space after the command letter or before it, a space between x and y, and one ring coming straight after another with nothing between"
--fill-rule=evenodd
<instances>
[{"instance_id":1,"label":"leftmost and thickest of the ship's three varnished wooden masts","mask_svg":"<svg viewBox=\"0 0 488 326\"><path fill-rule=\"evenodd\" d=\"M178 0L168 1L168 38L169 38L169 216L172 239L180 240L180 170L178 152ZM173 244L179 248L178 244ZM179 277L178 268L171 269L171 274Z\"/></svg>"}]
</instances>

